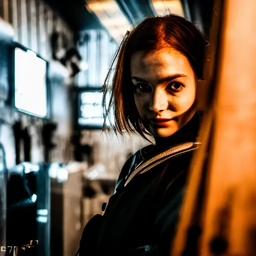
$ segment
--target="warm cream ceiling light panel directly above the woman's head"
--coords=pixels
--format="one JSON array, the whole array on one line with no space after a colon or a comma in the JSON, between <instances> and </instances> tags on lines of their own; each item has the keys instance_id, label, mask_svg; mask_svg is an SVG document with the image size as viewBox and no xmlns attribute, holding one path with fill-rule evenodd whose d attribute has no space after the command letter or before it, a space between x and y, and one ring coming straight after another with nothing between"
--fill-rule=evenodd
<instances>
[{"instance_id":1,"label":"warm cream ceiling light panel directly above the woman's head","mask_svg":"<svg viewBox=\"0 0 256 256\"><path fill-rule=\"evenodd\" d=\"M158 15L173 13L184 17L180 0L151 0L151 2Z\"/></svg>"}]
</instances>

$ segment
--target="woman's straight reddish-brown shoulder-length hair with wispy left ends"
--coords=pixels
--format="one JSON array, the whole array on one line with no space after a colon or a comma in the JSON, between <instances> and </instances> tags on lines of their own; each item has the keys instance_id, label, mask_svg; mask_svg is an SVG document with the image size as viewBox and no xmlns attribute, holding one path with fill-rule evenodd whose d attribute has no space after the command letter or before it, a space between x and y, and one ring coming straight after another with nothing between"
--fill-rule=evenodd
<instances>
[{"instance_id":1,"label":"woman's straight reddish-brown shoulder-length hair with wispy left ends","mask_svg":"<svg viewBox=\"0 0 256 256\"><path fill-rule=\"evenodd\" d=\"M202 78L204 39L200 31L185 18L169 14L147 17L130 32L127 31L110 65L103 84L103 130L113 114L110 127L115 133L138 133L146 139L134 102L131 86L130 60L133 53L172 47L189 60L195 76ZM109 97L108 97L109 96Z\"/></svg>"}]
</instances>

